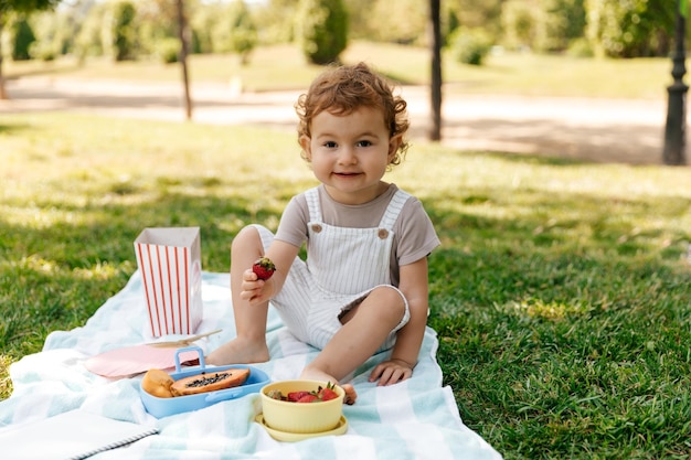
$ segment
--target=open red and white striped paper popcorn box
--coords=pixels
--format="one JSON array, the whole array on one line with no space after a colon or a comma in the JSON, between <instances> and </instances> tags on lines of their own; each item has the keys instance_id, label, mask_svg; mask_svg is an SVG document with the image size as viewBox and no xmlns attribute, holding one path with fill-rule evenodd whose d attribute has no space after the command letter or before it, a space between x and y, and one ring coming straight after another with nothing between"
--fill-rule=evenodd
<instances>
[{"instance_id":1,"label":"open red and white striped paper popcorn box","mask_svg":"<svg viewBox=\"0 0 691 460\"><path fill-rule=\"evenodd\" d=\"M193 334L203 317L199 227L145 228L135 253L151 334Z\"/></svg>"}]
</instances>

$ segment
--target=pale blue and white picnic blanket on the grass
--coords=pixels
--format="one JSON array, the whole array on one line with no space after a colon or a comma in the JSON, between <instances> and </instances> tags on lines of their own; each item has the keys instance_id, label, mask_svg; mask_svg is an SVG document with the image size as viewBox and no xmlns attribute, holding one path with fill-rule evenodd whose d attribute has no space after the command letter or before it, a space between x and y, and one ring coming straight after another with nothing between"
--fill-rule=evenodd
<instances>
[{"instance_id":1,"label":"pale blue and white picnic blanket on the grass","mask_svg":"<svg viewBox=\"0 0 691 460\"><path fill-rule=\"evenodd\" d=\"M209 352L235 333L230 275L203 272L202 296L204 317L198 332L223 329L222 333L196 342ZM113 379L85 368L89 356L150 341L147 327L141 277L135 272L126 287L83 327L52 332L40 353L11 365L14 392L0 402L0 432L17 424L81 408L158 429L158 435L92 457L97 460L501 459L463 424L451 388L442 386L442 370L435 357L438 342L430 328L426 330L412 378L386 387L368 382L370 371L386 357L385 353L373 356L353 373L350 382L358 392L358 402L343 407L346 434L280 442L254 421L261 413L258 394L157 419L141 402L141 375ZM283 327L273 308L267 341L272 360L256 367L273 381L297 378L317 354L316 349L297 341Z\"/></svg>"}]
</instances>

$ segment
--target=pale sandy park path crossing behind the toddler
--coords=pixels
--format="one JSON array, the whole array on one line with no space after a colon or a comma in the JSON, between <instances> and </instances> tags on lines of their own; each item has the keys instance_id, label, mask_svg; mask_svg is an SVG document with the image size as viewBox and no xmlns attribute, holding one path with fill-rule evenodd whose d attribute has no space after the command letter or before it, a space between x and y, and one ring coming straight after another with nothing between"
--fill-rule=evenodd
<instances>
[{"instance_id":1,"label":"pale sandy park path crossing behind the toddler","mask_svg":"<svg viewBox=\"0 0 691 460\"><path fill-rule=\"evenodd\" d=\"M3 113L64 110L183 121L180 84L23 77L7 82ZM665 92L661 92L665 94ZM299 90L242 93L232 84L191 88L193 121L261 125L294 131ZM426 87L404 86L411 137L430 124ZM544 154L602 163L661 164L667 101L457 95L446 92L443 143L518 154Z\"/></svg>"}]
</instances>

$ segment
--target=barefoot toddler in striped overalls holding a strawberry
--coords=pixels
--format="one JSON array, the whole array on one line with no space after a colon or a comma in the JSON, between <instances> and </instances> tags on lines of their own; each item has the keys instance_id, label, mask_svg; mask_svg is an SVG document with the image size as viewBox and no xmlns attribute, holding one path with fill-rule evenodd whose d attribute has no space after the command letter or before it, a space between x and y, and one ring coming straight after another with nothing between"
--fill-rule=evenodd
<instances>
[{"instance_id":1,"label":"barefoot toddler in striped overalls holding a strawberry","mask_svg":"<svg viewBox=\"0 0 691 460\"><path fill-rule=\"evenodd\" d=\"M390 355L370 382L410 378L427 323L427 256L439 239L422 203L382 180L407 150L406 103L360 63L326 71L296 110L301 156L320 184L293 197L275 235L259 225L236 235L237 334L206 361L267 361L270 301L297 339L320 350L300 378L338 384L381 351ZM276 266L267 280L251 268L263 256ZM342 387L354 403L353 386Z\"/></svg>"}]
</instances>

